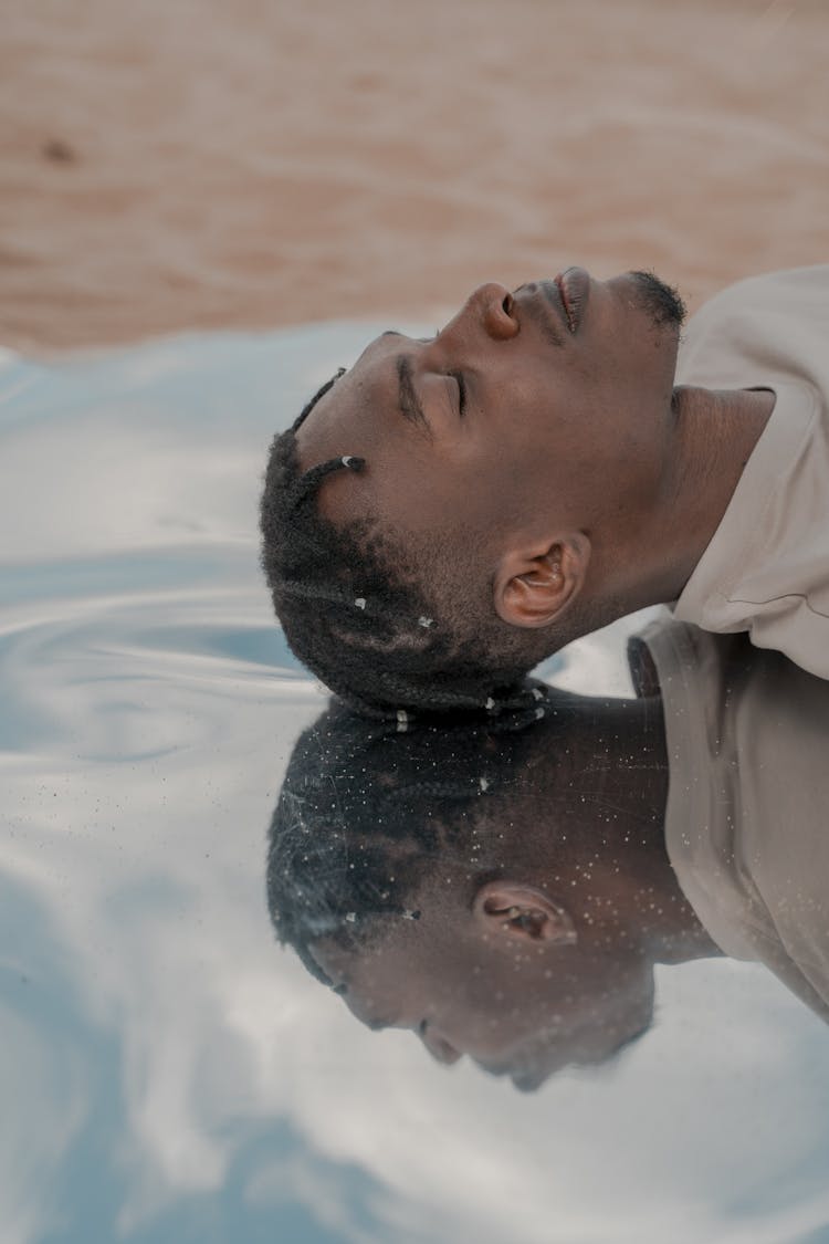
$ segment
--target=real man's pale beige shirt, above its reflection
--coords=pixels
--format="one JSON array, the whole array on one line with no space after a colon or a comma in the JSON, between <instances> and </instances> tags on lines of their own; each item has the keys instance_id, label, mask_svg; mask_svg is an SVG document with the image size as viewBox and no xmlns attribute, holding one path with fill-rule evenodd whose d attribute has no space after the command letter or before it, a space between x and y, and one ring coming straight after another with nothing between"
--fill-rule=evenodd
<instances>
[{"instance_id":1,"label":"real man's pale beige shirt, above its reflection","mask_svg":"<svg viewBox=\"0 0 829 1244\"><path fill-rule=\"evenodd\" d=\"M829 678L829 266L717 295L689 325L676 378L777 396L676 617L748 629Z\"/></svg>"}]
</instances>

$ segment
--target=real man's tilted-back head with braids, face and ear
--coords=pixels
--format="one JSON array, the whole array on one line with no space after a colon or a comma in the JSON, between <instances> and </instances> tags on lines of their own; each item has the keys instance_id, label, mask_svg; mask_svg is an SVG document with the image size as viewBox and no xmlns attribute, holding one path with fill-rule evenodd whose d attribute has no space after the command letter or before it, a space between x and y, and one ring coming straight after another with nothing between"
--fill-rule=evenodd
<instances>
[{"instance_id":1,"label":"real man's tilted-back head with braids, face and ear","mask_svg":"<svg viewBox=\"0 0 829 1244\"><path fill-rule=\"evenodd\" d=\"M621 612L681 318L655 277L569 269L372 342L271 452L263 565L301 659L368 708L477 708Z\"/></svg>"}]
</instances>

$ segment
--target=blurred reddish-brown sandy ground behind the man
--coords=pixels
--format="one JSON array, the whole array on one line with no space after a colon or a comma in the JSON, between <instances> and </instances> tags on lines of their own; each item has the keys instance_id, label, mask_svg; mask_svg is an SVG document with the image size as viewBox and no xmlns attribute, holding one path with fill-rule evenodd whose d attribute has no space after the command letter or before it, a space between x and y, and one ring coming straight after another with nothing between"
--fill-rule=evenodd
<instances>
[{"instance_id":1,"label":"blurred reddish-brown sandy ground behind the man","mask_svg":"<svg viewBox=\"0 0 829 1244\"><path fill-rule=\"evenodd\" d=\"M9 0L0 342L829 259L827 0Z\"/></svg>"}]
</instances>

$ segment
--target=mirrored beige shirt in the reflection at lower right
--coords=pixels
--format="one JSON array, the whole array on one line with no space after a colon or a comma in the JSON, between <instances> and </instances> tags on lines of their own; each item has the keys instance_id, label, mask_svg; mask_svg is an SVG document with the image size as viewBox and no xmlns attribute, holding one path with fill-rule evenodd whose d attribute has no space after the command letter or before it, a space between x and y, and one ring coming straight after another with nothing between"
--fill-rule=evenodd
<instances>
[{"instance_id":1,"label":"mirrored beige shirt in the reflection at lower right","mask_svg":"<svg viewBox=\"0 0 829 1244\"><path fill-rule=\"evenodd\" d=\"M665 841L728 955L829 1021L829 683L746 636L656 621L670 764Z\"/></svg>"}]
</instances>

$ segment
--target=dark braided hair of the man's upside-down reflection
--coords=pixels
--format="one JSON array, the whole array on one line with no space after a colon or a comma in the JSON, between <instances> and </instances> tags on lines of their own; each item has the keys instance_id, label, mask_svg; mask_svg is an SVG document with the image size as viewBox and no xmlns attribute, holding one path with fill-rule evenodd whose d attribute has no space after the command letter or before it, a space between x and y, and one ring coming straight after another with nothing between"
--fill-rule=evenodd
<instances>
[{"instance_id":1,"label":"dark braided hair of the man's upside-down reflection","mask_svg":"<svg viewBox=\"0 0 829 1244\"><path fill-rule=\"evenodd\" d=\"M527 690L542 712L561 697ZM483 796L521 780L521 758L537 743L523 729L529 719L534 712L398 733L334 704L301 735L271 820L267 897L280 940L313 975L324 979L309 954L317 938L363 944L378 917L416 918L419 883L447 851L462 846L471 872L487 867Z\"/></svg>"}]
</instances>

